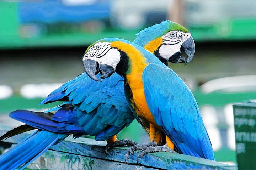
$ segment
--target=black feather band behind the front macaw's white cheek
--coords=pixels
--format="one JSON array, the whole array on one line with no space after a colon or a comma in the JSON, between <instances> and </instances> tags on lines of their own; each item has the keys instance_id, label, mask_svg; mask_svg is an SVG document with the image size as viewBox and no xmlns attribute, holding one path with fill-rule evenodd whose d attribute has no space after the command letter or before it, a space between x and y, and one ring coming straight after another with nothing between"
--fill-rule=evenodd
<instances>
[{"instance_id":1,"label":"black feather band behind the front macaw's white cheek","mask_svg":"<svg viewBox=\"0 0 256 170\"><path fill-rule=\"evenodd\" d=\"M124 77L124 74L128 71L129 69L129 57L125 52L122 50L117 49L120 52L120 61L116 66L116 73Z\"/></svg>"}]
</instances>

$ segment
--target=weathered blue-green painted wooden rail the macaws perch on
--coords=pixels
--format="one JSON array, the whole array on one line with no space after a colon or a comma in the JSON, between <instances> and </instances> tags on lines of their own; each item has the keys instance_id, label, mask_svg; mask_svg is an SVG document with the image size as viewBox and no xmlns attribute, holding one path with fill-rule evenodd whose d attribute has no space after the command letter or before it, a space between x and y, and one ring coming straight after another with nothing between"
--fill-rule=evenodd
<instances>
[{"instance_id":1,"label":"weathered blue-green painted wooden rail the macaws perch on","mask_svg":"<svg viewBox=\"0 0 256 170\"><path fill-rule=\"evenodd\" d=\"M0 126L0 135L10 128ZM9 138L6 142L17 143L26 134ZM98 142L88 138L72 139L54 145L42 157L28 166L30 169L204 169L204 170L236 170L236 166L227 165L212 160L191 157L175 153L151 153L139 159L138 152L132 155L128 165L124 161L124 154L128 147L115 147L110 154L105 153L106 142Z\"/></svg>"}]
</instances>

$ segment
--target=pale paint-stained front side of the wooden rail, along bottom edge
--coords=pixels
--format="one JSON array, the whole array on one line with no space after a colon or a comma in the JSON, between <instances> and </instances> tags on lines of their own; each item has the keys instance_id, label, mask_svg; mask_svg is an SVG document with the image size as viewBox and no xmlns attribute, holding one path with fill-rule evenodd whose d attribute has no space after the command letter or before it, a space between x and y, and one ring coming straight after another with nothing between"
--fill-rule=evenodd
<instances>
[{"instance_id":1,"label":"pale paint-stained front side of the wooden rail, along bottom edge","mask_svg":"<svg viewBox=\"0 0 256 170\"><path fill-rule=\"evenodd\" d=\"M27 166L31 169L52 169L52 170L153 170L141 165L129 165L121 162L109 162L108 160L84 157L77 154L68 154L48 150L39 159Z\"/></svg>"}]
</instances>

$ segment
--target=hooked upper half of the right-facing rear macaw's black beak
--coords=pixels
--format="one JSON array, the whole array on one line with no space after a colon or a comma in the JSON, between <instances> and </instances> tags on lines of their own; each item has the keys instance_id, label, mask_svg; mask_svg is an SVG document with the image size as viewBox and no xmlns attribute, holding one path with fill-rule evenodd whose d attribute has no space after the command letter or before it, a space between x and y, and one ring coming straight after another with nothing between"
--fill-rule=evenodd
<instances>
[{"instance_id":1,"label":"hooked upper half of the right-facing rear macaw's black beak","mask_svg":"<svg viewBox=\"0 0 256 170\"><path fill-rule=\"evenodd\" d=\"M190 37L189 39L187 39L186 41L184 41L181 44L182 49L185 51L185 53L188 55L187 61L185 63L188 64L189 62L191 62L191 60L194 57L194 53L196 51L196 46L194 44L194 40L192 37Z\"/></svg>"}]
</instances>

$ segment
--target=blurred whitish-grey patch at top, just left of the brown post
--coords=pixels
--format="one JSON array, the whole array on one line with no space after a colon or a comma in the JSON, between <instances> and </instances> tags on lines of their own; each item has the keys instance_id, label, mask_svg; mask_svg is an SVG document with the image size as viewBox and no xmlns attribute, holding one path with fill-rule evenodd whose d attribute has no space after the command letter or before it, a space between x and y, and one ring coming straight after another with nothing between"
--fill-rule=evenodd
<instances>
[{"instance_id":1,"label":"blurred whitish-grey patch at top, just left of the brown post","mask_svg":"<svg viewBox=\"0 0 256 170\"><path fill-rule=\"evenodd\" d=\"M111 24L121 29L143 29L167 18L167 4L169 0L111 0Z\"/></svg>"}]
</instances>

